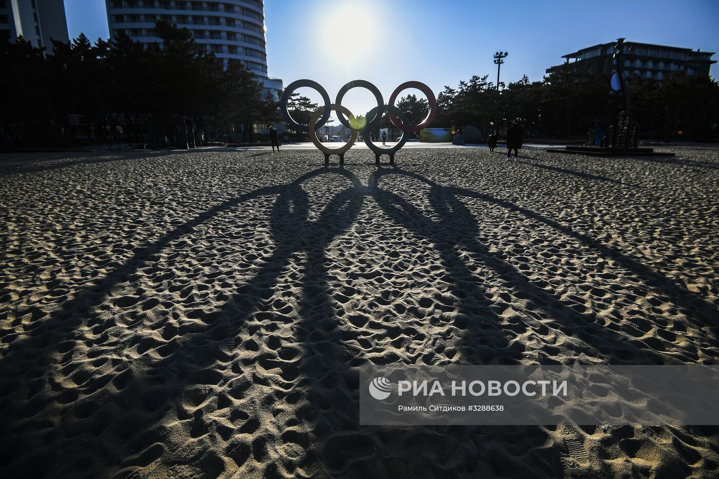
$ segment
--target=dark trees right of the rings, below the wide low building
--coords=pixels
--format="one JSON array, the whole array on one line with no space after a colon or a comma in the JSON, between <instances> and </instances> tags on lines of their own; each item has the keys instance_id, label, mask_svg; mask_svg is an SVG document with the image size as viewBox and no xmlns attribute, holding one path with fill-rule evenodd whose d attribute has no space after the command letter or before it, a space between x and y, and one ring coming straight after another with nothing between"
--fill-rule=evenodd
<instances>
[{"instance_id":1,"label":"dark trees right of the rings, below the wide low building","mask_svg":"<svg viewBox=\"0 0 719 479\"><path fill-rule=\"evenodd\" d=\"M435 127L473 125L483 132L503 131L519 119L531 134L543 137L578 137L593 128L615 122L624 109L620 92L612 91L607 75L555 73L543 81L527 76L513 83L496 84L488 76L472 76L458 88L444 87L437 96ZM718 137L719 83L708 77L668 75L663 81L640 76L628 78L632 116L641 136L662 140L710 140Z\"/></svg>"}]
</instances>

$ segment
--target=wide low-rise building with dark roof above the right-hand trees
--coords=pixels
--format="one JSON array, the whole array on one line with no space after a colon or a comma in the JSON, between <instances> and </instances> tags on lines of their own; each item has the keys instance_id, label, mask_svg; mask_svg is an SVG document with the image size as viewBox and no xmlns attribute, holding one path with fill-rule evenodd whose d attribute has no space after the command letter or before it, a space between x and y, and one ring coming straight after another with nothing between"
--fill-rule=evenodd
<instances>
[{"instance_id":1,"label":"wide low-rise building with dark roof above the right-hand trees","mask_svg":"<svg viewBox=\"0 0 719 479\"><path fill-rule=\"evenodd\" d=\"M603 43L582 48L574 53L562 55L567 63L546 70L552 75L588 71L611 75L616 70L614 55L616 42ZM649 43L624 42L624 72L627 76L639 75L661 81L667 73L683 71L687 75L709 76L709 69L716 60L713 52L702 52L691 48L665 47Z\"/></svg>"}]
</instances>

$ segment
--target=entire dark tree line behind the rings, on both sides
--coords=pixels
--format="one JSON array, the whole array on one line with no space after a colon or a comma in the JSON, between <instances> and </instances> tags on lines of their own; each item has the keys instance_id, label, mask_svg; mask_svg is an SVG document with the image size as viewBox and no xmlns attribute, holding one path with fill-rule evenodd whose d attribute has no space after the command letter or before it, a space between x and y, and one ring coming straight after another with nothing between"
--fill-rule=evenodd
<instances>
[{"instance_id":1,"label":"entire dark tree line behind the rings, on both sides","mask_svg":"<svg viewBox=\"0 0 719 479\"><path fill-rule=\"evenodd\" d=\"M223 60L193 40L188 29L157 22L162 44L147 47L120 34L95 44L80 35L53 42L52 52L19 37L0 40L0 145L58 146L78 142L193 145L225 134L255 140L253 124L281 122L278 102L239 60ZM496 84L472 76L437 96L431 127L478 127L485 136L519 119L528 134L579 137L595 119L603 127L623 109L606 75L554 73L543 81ZM628 78L633 118L641 136L708 140L718 135L719 83L683 72L663 81ZM288 109L306 123L319 105L297 93ZM426 99L398 100L412 124L426 117ZM359 119L363 119L361 115ZM379 128L390 127L385 114ZM392 134L395 134L393 131ZM305 140L290 132L290 137ZM306 135L305 135L306 136Z\"/></svg>"}]
</instances>

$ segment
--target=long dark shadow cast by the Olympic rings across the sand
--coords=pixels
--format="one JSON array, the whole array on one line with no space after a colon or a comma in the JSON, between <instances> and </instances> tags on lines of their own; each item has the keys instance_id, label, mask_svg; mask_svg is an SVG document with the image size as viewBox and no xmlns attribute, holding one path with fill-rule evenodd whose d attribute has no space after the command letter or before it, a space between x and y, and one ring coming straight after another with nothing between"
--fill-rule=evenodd
<instances>
[{"instance_id":1,"label":"long dark shadow cast by the Olympic rings across the sand","mask_svg":"<svg viewBox=\"0 0 719 479\"><path fill-rule=\"evenodd\" d=\"M349 186L342 188L329 199L317 219L310 221L308 194L303 189L303 183L327 174L344 177ZM439 219L429 218L426 212L417 209L398 193L382 188L381 180L388 175L412 178L429 186L429 202ZM99 405L95 406L100 408L102 404L109 404L109 409L112 410L111 403L132 403L137 398L144 397L147 390L152 389L152 391L159 390L160 397L168 398L168 405L151 411L145 416L143 424L137 424L139 429L137 437L142 432L154 429L160 424L162 417L168 414L173 399L177 401L182 397L188 388L196 384L199 376L211 375L216 368L226 368L226 362L232 358L232 348L227 347L226 340L239 337L239 334L249 327L248 321L252 319L253 314L260 308L266 309L267 305L263 303L272 296L278 278L286 271L293 258L302 253L305 255L300 275L302 293L298 301L298 319L294 326L297 340L304 343L305 350L300 366L302 371L290 371L290 375L299 377L304 373L308 378L307 382L310 385L308 394L315 408L310 419L316 424L321 422L323 428L328 427L328 424L329 427L342 426L343 421L344 424L356 424L357 411L353 409L356 397L345 397L343 391L347 391L348 388L333 387L333 385L336 386L339 381L352 382L356 391L357 377L349 368L366 363L367 358L363 357L362 349L343 339L344 325L337 324L334 299L329 294L330 286L327 280L327 272L330 268L328 263L331 261L327 250L331 242L352 227L365 204L366 197L373 199L393 222L413 234L428 239L439 252L441 264L450 279L451 291L459 302L459 314L454 316L454 327L464 332L463 351L458 358L462 362L514 364L522 359L525 352L521 349L524 346L521 345L505 347L505 345L483 344L482 338L486 336L487 329L501 334L502 326L497 312L492 308L492 299L487 297L474 279L475 273L463 259L465 252L469 253L472 260L493 270L512 291L533 298L535 304L530 305L525 314L527 324L538 324L541 319L554 315L562 321L559 329L562 329L564 334L578 337L597 350L597 355L605 356L608 360L613 358L602 355L599 351L603 350L605 345L612 345L618 342L618 339L623 339L622 334L601 327L593 314L587 315L567 306L559 298L547 293L541 286L526 278L508 263L503 255L490 251L486 245L482 245L477 239L480 237L479 223L472 211L461 201L460 198L463 196L517 211L523 216L535 219L559 230L562 234L577 239L601 255L612 257L620 266L644 280L647 286L656 289L680 306L695 324L715 327L710 319L713 317L712 314L716 313L716 309L706 304L700 296L646 268L628 255L595 242L590 237L574 232L533 211L508 201L495 199L485 193L441 186L422 175L400 168L376 170L370 175L367 186L363 186L359 178L347 170L320 168L302 175L292 183L260 188L199 214L167 232L155 242L142 247L129 260L116 265L104 279L63 304L62 308L53 313L49 319L35 327L31 334L16 339L0 360L0 392L4 392L1 406L3 416L6 418L1 427L1 435L6 438L4 442L11 441L18 435L22 437L29 414L32 413L33 420L37 420L38 414L42 414L42 411L33 409L35 403L28 402L24 395L26 391L35 388L33 385L37 383L38 374L47 373L43 371L45 368L60 368L61 363L56 359L58 348L61 349L63 361L67 361L68 358L73 357L75 349L93 347L83 339L79 329L83 324L100 324L104 321L96 311L96 307L107 300L113 288L131 280L134 272L142 266L157 261L162 251L175 239L191 234L200 224L260 196L276 196L270 213L270 229L275 239L275 248L270 257L262 262L260 270L238 286L219 309L207 314L203 318L204 326L195 327L186 334L170 339L167 345L163 345L168 354L161 359L142 355L140 360L133 362L132 366L124 365L124 370L119 370L119 375L127 378L127 385L123 388L119 390L106 388L111 380L106 376L88 380L88 383L82 385L86 395L66 406L63 418L72 417L71 411L87 406L91 401L99 401ZM257 324L252 324L252 327L256 330ZM709 333L710 331L707 331L707 334ZM633 361L641 360L646 364L672 361L672 357L649 348L642 349L635 342L628 345L636 353ZM32 357L23 351L33 352ZM292 368L290 365L285 367ZM168 374L173 374L176 380L168 382L162 380ZM237 374L237 378L217 386L240 390L252 387L255 380L252 373L249 373L248 377L247 373L238 370ZM242 386L248 381L250 386ZM302 383L305 381L303 380ZM290 384L288 387L294 386ZM70 389L77 388L66 388L62 384L55 384L52 395L57 398ZM333 408L332 411L326 412L329 411L330 406ZM199 421L201 418L188 416L178 419ZM65 419L61 419L53 427L61 431L55 437L69 438L63 443L63 460L66 461L66 467L81 464L83 458L99 454L107 457L109 464L121 466L124 460L132 455L129 446L106 443L106 434L96 438L71 434L73 424ZM170 434L170 431L165 430L162 434ZM128 441L127 444L137 446L137 442ZM118 447L120 450L116 449ZM229 447L232 447L232 444ZM18 457L22 460L22 454ZM306 460L311 459L306 458ZM52 464L52 461L49 463Z\"/></svg>"}]
</instances>

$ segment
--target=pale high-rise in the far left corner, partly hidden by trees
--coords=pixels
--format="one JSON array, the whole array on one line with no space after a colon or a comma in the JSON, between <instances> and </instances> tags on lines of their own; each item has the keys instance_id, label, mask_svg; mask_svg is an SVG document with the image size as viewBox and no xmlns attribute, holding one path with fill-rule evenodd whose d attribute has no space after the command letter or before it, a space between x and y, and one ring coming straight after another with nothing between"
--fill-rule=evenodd
<instances>
[{"instance_id":1,"label":"pale high-rise in the far left corner, partly hidden by trees","mask_svg":"<svg viewBox=\"0 0 719 479\"><path fill-rule=\"evenodd\" d=\"M0 36L23 37L52 51L52 40L68 41L65 4L58 0L0 0Z\"/></svg>"}]
</instances>

